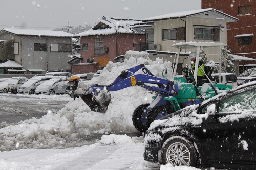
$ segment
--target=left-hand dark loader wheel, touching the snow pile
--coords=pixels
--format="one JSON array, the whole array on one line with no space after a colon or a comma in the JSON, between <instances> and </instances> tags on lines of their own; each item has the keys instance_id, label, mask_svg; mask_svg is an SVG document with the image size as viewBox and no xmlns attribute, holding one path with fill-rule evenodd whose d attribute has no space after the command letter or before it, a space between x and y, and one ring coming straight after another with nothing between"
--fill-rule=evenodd
<instances>
[{"instance_id":1,"label":"left-hand dark loader wheel, touching the snow pile","mask_svg":"<svg viewBox=\"0 0 256 170\"><path fill-rule=\"evenodd\" d=\"M133 125L135 126L135 128L140 131L140 132L146 132L147 128L142 124L141 122L141 118L143 116L143 114L146 111L146 108L149 106L149 103L146 104L142 104L140 106L138 106L134 112L133 112Z\"/></svg>"}]
</instances>

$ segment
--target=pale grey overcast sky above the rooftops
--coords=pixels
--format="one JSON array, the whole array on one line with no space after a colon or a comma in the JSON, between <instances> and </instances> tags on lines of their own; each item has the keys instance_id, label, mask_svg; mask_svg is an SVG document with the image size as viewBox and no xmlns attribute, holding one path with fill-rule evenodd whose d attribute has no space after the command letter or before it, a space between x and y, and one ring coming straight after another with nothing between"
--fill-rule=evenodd
<instances>
[{"instance_id":1,"label":"pale grey overcast sky above the rooftops","mask_svg":"<svg viewBox=\"0 0 256 170\"><path fill-rule=\"evenodd\" d=\"M201 0L2 0L0 29L94 26L102 16L144 19L195 9Z\"/></svg>"}]
</instances>

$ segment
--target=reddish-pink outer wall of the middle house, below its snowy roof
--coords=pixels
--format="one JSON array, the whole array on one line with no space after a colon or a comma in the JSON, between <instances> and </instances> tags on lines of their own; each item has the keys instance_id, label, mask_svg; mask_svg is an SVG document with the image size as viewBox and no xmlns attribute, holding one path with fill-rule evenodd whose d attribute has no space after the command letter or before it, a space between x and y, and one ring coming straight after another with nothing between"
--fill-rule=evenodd
<instances>
[{"instance_id":1,"label":"reddish-pink outer wall of the middle house, below its snowy roof","mask_svg":"<svg viewBox=\"0 0 256 170\"><path fill-rule=\"evenodd\" d=\"M109 51L102 55L95 55L95 38L104 37L104 46L109 48ZM72 65L72 73L80 73L79 69L85 72L96 72L102 69L100 66L105 66L108 61L114 61L114 58L119 55L124 55L126 51L133 50L133 39L135 42L145 42L145 35L133 34L111 34L111 35L93 35L81 37L81 46L84 43L88 44L88 50L83 51L81 47L81 57L78 63L87 63L87 58L92 58L93 62L99 62L95 65ZM103 62L103 63L102 63ZM82 72L81 72L82 73Z\"/></svg>"}]
</instances>

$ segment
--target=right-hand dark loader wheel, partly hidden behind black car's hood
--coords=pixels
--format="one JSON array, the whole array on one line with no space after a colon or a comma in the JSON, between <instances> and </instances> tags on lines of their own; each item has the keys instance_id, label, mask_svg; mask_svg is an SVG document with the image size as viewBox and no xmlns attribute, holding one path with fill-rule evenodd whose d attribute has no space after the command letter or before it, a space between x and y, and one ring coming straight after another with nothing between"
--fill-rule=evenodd
<instances>
[{"instance_id":1,"label":"right-hand dark loader wheel, partly hidden behind black car's hood","mask_svg":"<svg viewBox=\"0 0 256 170\"><path fill-rule=\"evenodd\" d=\"M159 114L170 114L173 113L174 110L170 108L168 105L158 105L153 107L147 114L146 117L146 128L150 127L150 124L156 119Z\"/></svg>"}]
</instances>

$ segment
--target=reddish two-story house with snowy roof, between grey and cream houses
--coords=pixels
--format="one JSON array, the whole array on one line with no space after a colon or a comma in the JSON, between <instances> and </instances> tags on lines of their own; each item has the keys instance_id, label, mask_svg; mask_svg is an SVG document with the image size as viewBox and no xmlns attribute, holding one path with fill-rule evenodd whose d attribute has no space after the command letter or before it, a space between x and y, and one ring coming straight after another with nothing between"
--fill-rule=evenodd
<instances>
[{"instance_id":1,"label":"reddish two-story house with snowy roof, between grey and cream houses","mask_svg":"<svg viewBox=\"0 0 256 170\"><path fill-rule=\"evenodd\" d=\"M144 32L132 30L139 19L103 17L93 28L76 34L81 38L81 56L75 56L68 63L72 73L96 72L109 61L126 51L133 50L134 42L145 42Z\"/></svg>"}]
</instances>

